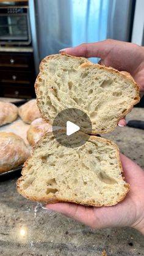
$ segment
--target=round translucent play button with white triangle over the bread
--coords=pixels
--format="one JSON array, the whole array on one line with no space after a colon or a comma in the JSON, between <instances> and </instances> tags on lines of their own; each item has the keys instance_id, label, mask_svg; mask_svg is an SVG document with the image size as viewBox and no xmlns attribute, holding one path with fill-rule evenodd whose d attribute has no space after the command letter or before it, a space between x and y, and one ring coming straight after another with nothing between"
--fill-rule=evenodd
<instances>
[{"instance_id":1,"label":"round translucent play button with white triangle over the bread","mask_svg":"<svg viewBox=\"0 0 144 256\"><path fill-rule=\"evenodd\" d=\"M92 134L92 122L84 111L67 108L60 111L54 119L52 132L61 145L77 148L82 146Z\"/></svg>"}]
</instances>

